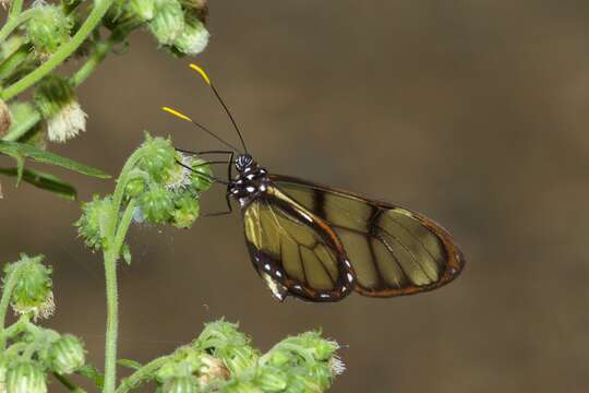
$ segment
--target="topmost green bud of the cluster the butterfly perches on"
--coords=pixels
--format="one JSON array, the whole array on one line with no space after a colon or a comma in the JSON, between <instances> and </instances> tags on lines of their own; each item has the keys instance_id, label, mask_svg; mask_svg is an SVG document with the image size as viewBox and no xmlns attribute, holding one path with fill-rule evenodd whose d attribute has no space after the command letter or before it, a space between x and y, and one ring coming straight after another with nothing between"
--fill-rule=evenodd
<instances>
[{"instance_id":1,"label":"topmost green bud of the cluster the butterfly perches on","mask_svg":"<svg viewBox=\"0 0 589 393\"><path fill-rule=\"evenodd\" d=\"M152 138L146 133L145 142L141 148L144 154L139 167L156 181L165 181L169 174L176 169L176 150L169 140Z\"/></svg>"}]
</instances>

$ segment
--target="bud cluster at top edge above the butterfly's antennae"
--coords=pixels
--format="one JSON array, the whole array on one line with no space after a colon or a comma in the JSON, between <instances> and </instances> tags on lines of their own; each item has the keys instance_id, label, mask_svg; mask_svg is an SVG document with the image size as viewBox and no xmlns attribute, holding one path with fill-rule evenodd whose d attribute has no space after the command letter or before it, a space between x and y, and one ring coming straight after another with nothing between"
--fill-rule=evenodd
<instances>
[{"instance_id":1,"label":"bud cluster at top edge above the butterfly's antennae","mask_svg":"<svg viewBox=\"0 0 589 393\"><path fill-rule=\"evenodd\" d=\"M205 14L204 0L119 0L109 19L115 25L120 21L147 23L161 46L180 56L194 56L208 44Z\"/></svg>"}]
</instances>

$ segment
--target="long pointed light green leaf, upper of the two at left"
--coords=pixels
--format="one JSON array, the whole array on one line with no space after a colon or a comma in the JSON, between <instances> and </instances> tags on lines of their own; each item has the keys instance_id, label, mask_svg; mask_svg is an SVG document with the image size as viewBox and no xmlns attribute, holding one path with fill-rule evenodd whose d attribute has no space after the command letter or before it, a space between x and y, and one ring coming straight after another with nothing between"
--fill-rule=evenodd
<instances>
[{"instance_id":1,"label":"long pointed light green leaf, upper of the two at left","mask_svg":"<svg viewBox=\"0 0 589 393\"><path fill-rule=\"evenodd\" d=\"M100 169L80 164L77 162L74 162L73 159L46 152L26 143L0 141L0 153L4 153L5 155L9 155L16 159L20 170L22 170L24 158L33 158L38 163L57 165L82 175L93 176L100 179L110 178L109 175L105 174Z\"/></svg>"}]
</instances>

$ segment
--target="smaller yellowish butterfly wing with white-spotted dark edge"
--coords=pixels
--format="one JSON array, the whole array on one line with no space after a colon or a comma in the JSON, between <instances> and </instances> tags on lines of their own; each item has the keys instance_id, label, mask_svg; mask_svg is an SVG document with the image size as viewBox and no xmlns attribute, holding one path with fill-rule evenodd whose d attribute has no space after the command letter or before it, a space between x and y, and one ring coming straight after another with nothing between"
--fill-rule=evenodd
<instances>
[{"instance_id":1,"label":"smaller yellowish butterfly wing with white-spotted dark edge","mask_svg":"<svg viewBox=\"0 0 589 393\"><path fill-rule=\"evenodd\" d=\"M344 246L323 219L269 187L243 211L252 262L274 296L335 301L351 291Z\"/></svg>"}]
</instances>

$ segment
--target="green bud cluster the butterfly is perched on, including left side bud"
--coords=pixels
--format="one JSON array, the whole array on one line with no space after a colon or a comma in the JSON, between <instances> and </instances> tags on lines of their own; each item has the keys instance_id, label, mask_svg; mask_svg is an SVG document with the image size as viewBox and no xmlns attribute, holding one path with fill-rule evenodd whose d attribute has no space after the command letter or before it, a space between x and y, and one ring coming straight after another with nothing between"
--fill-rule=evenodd
<instances>
[{"instance_id":1,"label":"green bud cluster the butterfly is perched on, including left side bud","mask_svg":"<svg viewBox=\"0 0 589 393\"><path fill-rule=\"evenodd\" d=\"M113 206L111 195L94 195L82 206L82 217L75 225L86 245L94 250L109 246L108 225L112 212L120 215L131 201L135 206L133 218L137 223L190 227L200 214L201 193L213 183L209 165L177 152L169 139L152 138L146 133L145 142L133 156L132 165L125 166L119 178L118 187L124 188L122 205Z\"/></svg>"}]
</instances>

